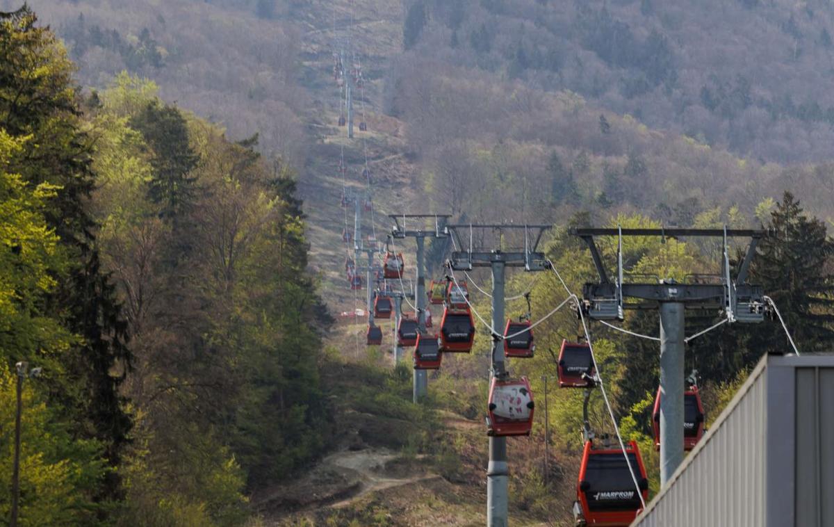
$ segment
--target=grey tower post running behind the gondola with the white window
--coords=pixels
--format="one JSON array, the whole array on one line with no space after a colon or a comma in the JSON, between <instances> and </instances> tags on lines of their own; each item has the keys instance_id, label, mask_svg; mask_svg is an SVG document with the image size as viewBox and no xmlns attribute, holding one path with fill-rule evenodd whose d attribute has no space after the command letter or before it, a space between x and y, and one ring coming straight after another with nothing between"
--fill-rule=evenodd
<instances>
[{"instance_id":1,"label":"grey tower post running behind the gondola with the white window","mask_svg":"<svg viewBox=\"0 0 834 527\"><path fill-rule=\"evenodd\" d=\"M504 324L504 265L504 262L492 262L492 327L495 330ZM503 379L506 375L504 343L497 334L492 339L492 376ZM507 524L509 481L507 438L490 436L490 464L486 469L486 524L490 527Z\"/></svg>"}]
</instances>

